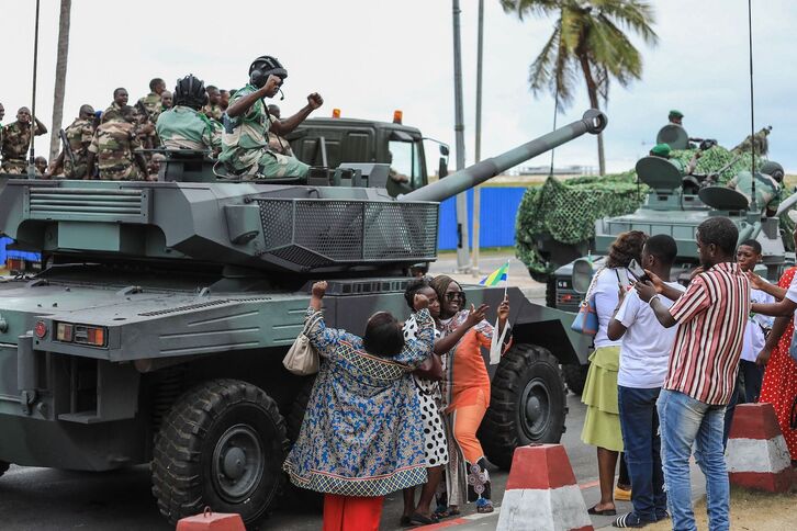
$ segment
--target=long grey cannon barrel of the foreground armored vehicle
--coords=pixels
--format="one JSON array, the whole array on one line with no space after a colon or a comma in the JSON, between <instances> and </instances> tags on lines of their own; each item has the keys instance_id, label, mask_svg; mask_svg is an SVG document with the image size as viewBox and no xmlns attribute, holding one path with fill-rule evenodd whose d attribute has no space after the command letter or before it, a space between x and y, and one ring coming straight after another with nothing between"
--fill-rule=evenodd
<instances>
[{"instance_id":1,"label":"long grey cannon barrel of the foreground armored vehicle","mask_svg":"<svg viewBox=\"0 0 797 531\"><path fill-rule=\"evenodd\" d=\"M398 197L400 201L444 201L448 197L476 187L484 181L506 171L520 162L549 151L562 144L580 137L584 133L597 135L608 122L608 118L600 111L591 109L584 113L581 120L554 129L531 142L510 149L497 157L476 162L462 170L459 170L445 179L419 188L406 195Z\"/></svg>"}]
</instances>

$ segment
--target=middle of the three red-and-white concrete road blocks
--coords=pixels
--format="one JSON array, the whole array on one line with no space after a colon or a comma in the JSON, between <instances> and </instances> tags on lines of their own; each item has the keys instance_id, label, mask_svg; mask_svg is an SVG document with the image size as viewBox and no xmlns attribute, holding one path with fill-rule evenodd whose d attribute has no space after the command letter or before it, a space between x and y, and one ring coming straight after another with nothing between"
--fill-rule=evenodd
<instances>
[{"instance_id":1,"label":"middle of the three red-and-white concrete road blocks","mask_svg":"<svg viewBox=\"0 0 797 531\"><path fill-rule=\"evenodd\" d=\"M515 450L496 529L592 531L564 447L536 444Z\"/></svg>"}]
</instances>

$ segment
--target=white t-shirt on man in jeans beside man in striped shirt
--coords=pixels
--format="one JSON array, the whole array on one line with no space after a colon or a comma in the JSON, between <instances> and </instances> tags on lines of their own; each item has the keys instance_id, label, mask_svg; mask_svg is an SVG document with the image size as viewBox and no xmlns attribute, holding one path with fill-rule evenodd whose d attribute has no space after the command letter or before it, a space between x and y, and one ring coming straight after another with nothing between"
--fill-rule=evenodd
<instances>
[{"instance_id":1,"label":"white t-shirt on man in jeans beside man in striped shirt","mask_svg":"<svg viewBox=\"0 0 797 531\"><path fill-rule=\"evenodd\" d=\"M684 286L677 282L666 284L681 292L684 291ZM674 304L664 296L660 296L659 301L667 308ZM675 341L678 326L670 328L661 326L653 309L639 298L636 290L626 295L615 319L626 327L620 346L617 385L638 389L652 389L664 385L670 350Z\"/></svg>"}]
</instances>

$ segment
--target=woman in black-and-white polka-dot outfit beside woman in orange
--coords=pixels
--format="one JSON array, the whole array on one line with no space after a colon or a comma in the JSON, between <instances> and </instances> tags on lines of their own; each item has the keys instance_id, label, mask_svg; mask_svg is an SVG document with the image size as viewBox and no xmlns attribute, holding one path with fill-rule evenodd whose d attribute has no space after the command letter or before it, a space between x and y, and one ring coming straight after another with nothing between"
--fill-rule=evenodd
<instances>
[{"instance_id":1,"label":"woman in black-and-white polka-dot outfit beside woman in orange","mask_svg":"<svg viewBox=\"0 0 797 531\"><path fill-rule=\"evenodd\" d=\"M440 303L435 290L429 285L429 280L420 278L409 281L404 291L404 298L414 313L404 323L405 341L414 340L417 335L418 326L415 313L419 308L415 304L416 294L422 294L429 300L428 309L435 320L440 317ZM440 338L440 332L435 330L435 352L413 372L413 383L420 404L420 418L424 425L424 453L428 479L420 490L420 499L417 506L415 505L415 487L404 489L404 512L400 522L402 526L430 524L438 521L437 517L431 513L431 500L442 478L442 467L448 463L448 441L440 391L440 381L442 380L440 354L453 347L464 332L484 318L484 309L486 309L486 306L480 307L482 312L474 309L470 319L460 327L460 330L447 338Z\"/></svg>"}]
</instances>

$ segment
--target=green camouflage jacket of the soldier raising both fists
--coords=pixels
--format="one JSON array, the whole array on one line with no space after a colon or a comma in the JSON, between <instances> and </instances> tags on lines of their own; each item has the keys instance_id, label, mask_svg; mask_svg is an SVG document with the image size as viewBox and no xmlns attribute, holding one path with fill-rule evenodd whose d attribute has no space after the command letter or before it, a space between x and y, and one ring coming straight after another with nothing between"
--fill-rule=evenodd
<instances>
[{"instance_id":1,"label":"green camouflage jacket of the soldier raising both fists","mask_svg":"<svg viewBox=\"0 0 797 531\"><path fill-rule=\"evenodd\" d=\"M231 106L256 90L251 84L238 90L229 100ZM245 115L235 118L225 115L224 120L222 155L218 160L235 170L249 168L257 163L269 146L268 132L271 121L266 112L266 104L262 100L257 100Z\"/></svg>"}]
</instances>

